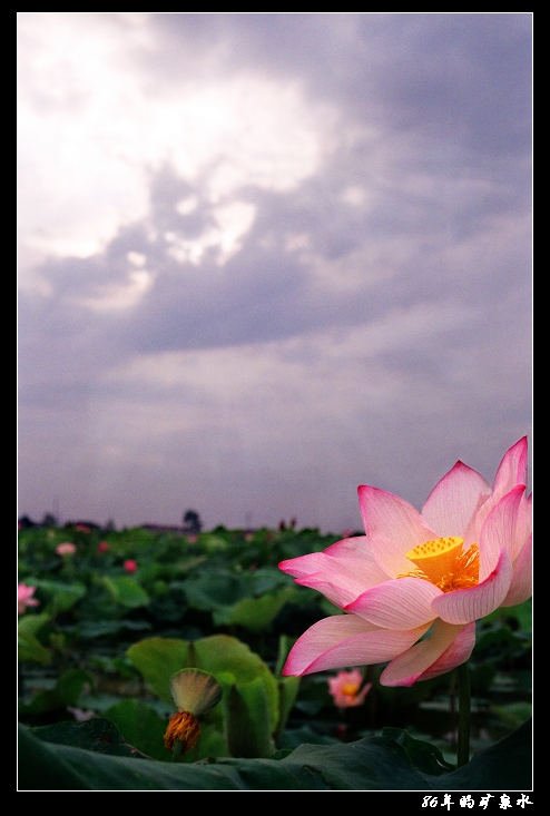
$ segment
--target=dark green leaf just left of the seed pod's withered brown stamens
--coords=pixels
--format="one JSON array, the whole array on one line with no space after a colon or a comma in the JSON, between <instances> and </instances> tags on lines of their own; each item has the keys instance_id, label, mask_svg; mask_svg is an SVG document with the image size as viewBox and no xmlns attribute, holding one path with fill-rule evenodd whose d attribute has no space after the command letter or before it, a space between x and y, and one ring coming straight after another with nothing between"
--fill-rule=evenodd
<instances>
[{"instance_id":1,"label":"dark green leaf just left of the seed pod's withered brown stamens","mask_svg":"<svg viewBox=\"0 0 550 816\"><path fill-rule=\"evenodd\" d=\"M127 743L151 759L170 758L164 744L168 721L150 706L135 699L121 700L104 711L102 716L117 726Z\"/></svg>"}]
</instances>

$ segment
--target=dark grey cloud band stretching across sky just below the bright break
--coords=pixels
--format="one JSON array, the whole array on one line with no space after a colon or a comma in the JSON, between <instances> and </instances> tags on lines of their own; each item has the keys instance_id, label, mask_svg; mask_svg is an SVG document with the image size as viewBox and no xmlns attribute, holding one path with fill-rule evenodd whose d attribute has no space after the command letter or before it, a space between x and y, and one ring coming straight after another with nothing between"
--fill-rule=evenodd
<instances>
[{"instance_id":1,"label":"dark grey cloud band stretching across sky just below the bright break","mask_svg":"<svg viewBox=\"0 0 550 816\"><path fill-rule=\"evenodd\" d=\"M380 196L373 213L365 212L342 203L343 181L336 170L332 181L331 171L327 168L297 191L248 190L248 199L257 207L255 223L242 249L219 266L208 253L199 265L179 263L168 254L167 232L180 239L196 238L215 219L213 205L196 186L163 168L151 177L151 213L146 220L121 228L100 255L50 260L42 266L57 296L49 298L47 308L41 308L42 297L22 296L23 335L38 330L42 345L48 337L60 338L62 355L76 354L89 344L101 350L91 363L96 367L134 353L232 346L295 336L334 323L357 325L379 319L395 304L438 303L453 294L464 303L489 298L494 309L510 287L517 286L512 273L526 260L521 249L518 257L507 255L483 274L475 267L448 268L444 236L435 240L430 236L439 220L441 227L448 226L449 215L438 213L432 199L424 201L423 196L411 194L401 195L397 201L396 191L390 190ZM198 205L190 215L180 215L176 205L189 195L196 195ZM463 238L483 228L479 218L466 226L468 218L466 208L453 216L462 224ZM307 264L285 248L291 230L307 234L315 255L327 260L369 245L370 235L391 242L425 233L426 243L409 250L391 287L380 285L366 260L359 286L351 292L334 287L327 297ZM85 298L127 279L130 252L146 256L147 268L155 275L151 289L121 314L91 312Z\"/></svg>"}]
</instances>

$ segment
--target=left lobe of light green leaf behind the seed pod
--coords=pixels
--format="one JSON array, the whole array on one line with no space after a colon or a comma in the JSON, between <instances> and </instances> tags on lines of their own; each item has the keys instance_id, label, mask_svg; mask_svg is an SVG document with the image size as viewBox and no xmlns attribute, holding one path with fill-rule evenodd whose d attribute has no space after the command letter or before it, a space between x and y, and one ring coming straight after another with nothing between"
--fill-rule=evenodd
<instances>
[{"instance_id":1,"label":"left lobe of light green leaf behind the seed pod","mask_svg":"<svg viewBox=\"0 0 550 816\"><path fill-rule=\"evenodd\" d=\"M150 690L174 706L170 677L191 665L189 643L176 638L147 638L130 646L126 653Z\"/></svg>"}]
</instances>

